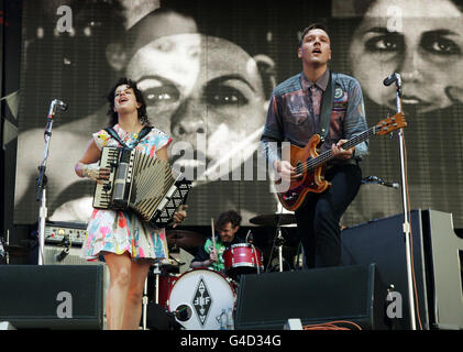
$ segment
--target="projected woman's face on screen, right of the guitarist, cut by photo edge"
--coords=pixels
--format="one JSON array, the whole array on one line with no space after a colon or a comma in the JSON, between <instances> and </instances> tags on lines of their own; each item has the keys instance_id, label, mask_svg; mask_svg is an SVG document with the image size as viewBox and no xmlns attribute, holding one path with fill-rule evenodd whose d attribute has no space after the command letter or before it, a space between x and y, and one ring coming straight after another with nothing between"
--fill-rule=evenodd
<instances>
[{"instance_id":1,"label":"projected woman's face on screen, right of the guitarist, cut by photo edge","mask_svg":"<svg viewBox=\"0 0 463 352\"><path fill-rule=\"evenodd\" d=\"M350 47L353 75L374 102L395 109L399 73L404 110L428 112L452 105L449 87L463 78L463 16L449 0L377 0L355 30Z\"/></svg>"}]
</instances>

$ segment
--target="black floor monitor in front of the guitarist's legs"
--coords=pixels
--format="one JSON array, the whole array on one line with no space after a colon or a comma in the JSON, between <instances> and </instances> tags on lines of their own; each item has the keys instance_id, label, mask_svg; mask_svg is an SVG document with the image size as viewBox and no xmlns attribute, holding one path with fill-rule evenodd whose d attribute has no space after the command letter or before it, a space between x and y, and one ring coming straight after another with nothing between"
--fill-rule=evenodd
<instances>
[{"instance_id":1,"label":"black floor monitor in front of the guitarist's legs","mask_svg":"<svg viewBox=\"0 0 463 352\"><path fill-rule=\"evenodd\" d=\"M235 329L282 330L291 318L302 326L343 320L387 329L385 301L375 264L243 275Z\"/></svg>"}]
</instances>

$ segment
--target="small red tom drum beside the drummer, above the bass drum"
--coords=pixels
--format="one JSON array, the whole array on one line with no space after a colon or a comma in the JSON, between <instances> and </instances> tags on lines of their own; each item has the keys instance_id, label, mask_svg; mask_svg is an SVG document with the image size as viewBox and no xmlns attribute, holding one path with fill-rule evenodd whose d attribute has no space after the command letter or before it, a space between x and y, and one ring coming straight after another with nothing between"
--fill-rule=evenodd
<instances>
[{"instance_id":1,"label":"small red tom drum beside the drummer, above the bass drum","mask_svg":"<svg viewBox=\"0 0 463 352\"><path fill-rule=\"evenodd\" d=\"M223 252L225 272L230 276L254 274L264 270L261 251L249 243L231 245Z\"/></svg>"}]
</instances>

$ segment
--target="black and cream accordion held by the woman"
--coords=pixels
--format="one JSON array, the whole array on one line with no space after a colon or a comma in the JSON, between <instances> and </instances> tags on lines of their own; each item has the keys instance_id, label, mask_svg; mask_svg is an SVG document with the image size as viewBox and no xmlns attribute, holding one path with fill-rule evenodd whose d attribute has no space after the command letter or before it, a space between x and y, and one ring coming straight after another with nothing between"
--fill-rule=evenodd
<instances>
[{"instance_id":1,"label":"black and cream accordion held by the woman","mask_svg":"<svg viewBox=\"0 0 463 352\"><path fill-rule=\"evenodd\" d=\"M173 222L191 188L191 182L167 162L134 148L104 146L99 166L108 167L110 176L96 185L93 208L132 210L157 228Z\"/></svg>"}]
</instances>

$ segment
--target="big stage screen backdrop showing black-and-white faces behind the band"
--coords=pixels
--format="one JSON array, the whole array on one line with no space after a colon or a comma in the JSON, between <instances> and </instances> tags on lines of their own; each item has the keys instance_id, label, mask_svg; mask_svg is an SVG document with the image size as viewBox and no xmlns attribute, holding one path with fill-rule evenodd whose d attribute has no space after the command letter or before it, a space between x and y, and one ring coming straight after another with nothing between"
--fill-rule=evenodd
<instances>
[{"instance_id":1,"label":"big stage screen backdrop showing black-and-white faces behind the band","mask_svg":"<svg viewBox=\"0 0 463 352\"><path fill-rule=\"evenodd\" d=\"M120 76L141 81L152 123L174 139L170 156L179 147L176 143L184 141L206 166L230 153L241 155L247 170L254 170L243 180L242 165L241 180L213 182L217 169L203 167L206 180L190 193L186 224L210 224L229 209L240 210L245 223L277 211L269 182L257 177L262 160L254 148L275 84L301 70L300 31L322 21L330 29L331 68L360 80L368 125L395 113L395 91L384 87L383 79L393 72L404 75L410 207L451 212L454 227L463 227L460 3L425 1L412 10L410 2L417 1L393 2L386 8L388 2L382 0L25 0L14 222L33 223L38 218L36 168L54 98L69 109L57 113L53 125L48 218L88 221L93 185L74 174L74 164L91 133L106 125L104 97ZM66 12L57 14L63 4L71 10L70 32L63 30L69 24L63 18ZM176 14L158 13L144 30L128 34L133 23L158 7ZM179 165L205 166L186 158ZM398 136L372 139L362 168L363 176L400 183ZM342 223L396 215L401 205L399 189L363 185Z\"/></svg>"}]
</instances>

